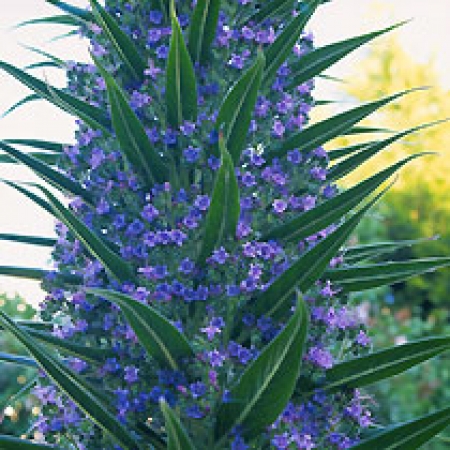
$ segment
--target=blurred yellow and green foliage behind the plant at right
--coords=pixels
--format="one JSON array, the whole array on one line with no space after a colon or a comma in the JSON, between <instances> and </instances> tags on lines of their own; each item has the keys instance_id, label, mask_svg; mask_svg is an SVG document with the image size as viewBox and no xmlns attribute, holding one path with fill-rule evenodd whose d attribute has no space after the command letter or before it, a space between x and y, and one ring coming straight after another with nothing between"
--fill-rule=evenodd
<instances>
[{"instance_id":1,"label":"blurred yellow and green foliage behind the plant at right","mask_svg":"<svg viewBox=\"0 0 450 450\"><path fill-rule=\"evenodd\" d=\"M420 64L402 49L395 37L374 47L358 64L354 76L341 88L350 99L369 101L404 89L429 86L389 105L366 125L403 130L421 123L450 117L450 92L439 86L433 63ZM344 180L353 185L394 161L421 151L437 156L415 160L402 170L390 192L359 228L361 243L430 238L428 241L389 255L402 260L411 256L450 254L450 126L433 126L384 150L357 173ZM379 138L378 136L372 139ZM359 140L358 140L359 139ZM349 137L330 148L363 142ZM376 348L402 344L431 335L450 335L450 270L415 277L391 289L360 294L366 306ZM372 388L378 421L388 424L425 415L450 403L450 354L431 360L407 373ZM425 448L450 448L446 431Z\"/></svg>"}]
</instances>

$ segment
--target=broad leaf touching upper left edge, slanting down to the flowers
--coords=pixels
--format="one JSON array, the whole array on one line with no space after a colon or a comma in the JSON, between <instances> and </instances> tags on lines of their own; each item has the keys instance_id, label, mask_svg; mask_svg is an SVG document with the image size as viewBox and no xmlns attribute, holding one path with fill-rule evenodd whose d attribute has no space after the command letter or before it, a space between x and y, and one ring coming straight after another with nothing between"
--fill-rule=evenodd
<instances>
[{"instance_id":1,"label":"broad leaf touching upper left edge, slanting down to the flowers","mask_svg":"<svg viewBox=\"0 0 450 450\"><path fill-rule=\"evenodd\" d=\"M53 88L38 78L4 61L0 61L0 69L12 75L41 98L55 104L69 114L79 117L92 128L109 132L111 123L101 108L67 94L61 89Z\"/></svg>"}]
</instances>

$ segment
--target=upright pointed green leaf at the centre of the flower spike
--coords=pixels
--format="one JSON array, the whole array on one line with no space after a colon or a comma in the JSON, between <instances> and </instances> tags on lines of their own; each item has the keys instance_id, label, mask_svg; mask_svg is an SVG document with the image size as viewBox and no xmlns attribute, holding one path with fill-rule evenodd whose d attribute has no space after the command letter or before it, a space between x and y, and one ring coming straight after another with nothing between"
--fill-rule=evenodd
<instances>
[{"instance_id":1,"label":"upright pointed green leaf at the centre of the flower spike","mask_svg":"<svg viewBox=\"0 0 450 450\"><path fill-rule=\"evenodd\" d=\"M224 138L219 137L222 164L216 175L211 204L206 216L198 263L203 265L226 238L236 236L240 214L239 185L233 160L228 153Z\"/></svg>"}]
</instances>

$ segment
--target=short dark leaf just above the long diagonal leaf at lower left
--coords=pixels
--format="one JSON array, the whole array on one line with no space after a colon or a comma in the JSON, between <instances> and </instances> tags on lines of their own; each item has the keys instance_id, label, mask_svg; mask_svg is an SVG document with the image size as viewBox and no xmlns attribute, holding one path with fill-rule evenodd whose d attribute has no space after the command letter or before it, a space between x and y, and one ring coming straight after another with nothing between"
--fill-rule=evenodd
<instances>
[{"instance_id":1,"label":"short dark leaf just above the long diagonal leaf at lower left","mask_svg":"<svg viewBox=\"0 0 450 450\"><path fill-rule=\"evenodd\" d=\"M108 349L96 348L96 347L85 347L79 344L74 344L65 339L59 339L51 333L45 331L36 330L33 328L28 328L21 326L32 338L38 341L51 345L57 348L63 353L68 353L72 356L85 359L93 363L99 363L105 361L106 358L114 356L114 352Z\"/></svg>"}]
</instances>

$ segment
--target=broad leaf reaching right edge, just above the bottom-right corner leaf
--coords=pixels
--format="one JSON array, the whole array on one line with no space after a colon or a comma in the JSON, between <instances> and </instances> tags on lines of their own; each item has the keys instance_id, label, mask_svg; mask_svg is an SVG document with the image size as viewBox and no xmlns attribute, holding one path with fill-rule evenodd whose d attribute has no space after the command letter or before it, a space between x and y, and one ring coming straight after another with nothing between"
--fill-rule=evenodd
<instances>
[{"instance_id":1,"label":"broad leaf reaching right edge, just above the bottom-right corner leaf","mask_svg":"<svg viewBox=\"0 0 450 450\"><path fill-rule=\"evenodd\" d=\"M356 389L405 372L450 349L450 337L432 337L379 350L334 365L320 389Z\"/></svg>"}]
</instances>

